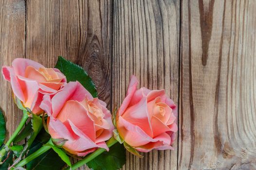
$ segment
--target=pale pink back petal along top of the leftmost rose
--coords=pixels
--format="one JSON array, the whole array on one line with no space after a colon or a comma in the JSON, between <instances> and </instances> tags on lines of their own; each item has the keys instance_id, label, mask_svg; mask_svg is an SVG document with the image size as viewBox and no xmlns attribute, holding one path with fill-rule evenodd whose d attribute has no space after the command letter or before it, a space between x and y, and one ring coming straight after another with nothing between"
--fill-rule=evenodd
<instances>
[{"instance_id":1,"label":"pale pink back petal along top of the leftmost rose","mask_svg":"<svg viewBox=\"0 0 256 170\"><path fill-rule=\"evenodd\" d=\"M43 65L26 58L16 58L15 60L13 60L12 66L14 67L16 74L21 75L23 77L25 76L25 70L28 66L32 66L36 69L44 68Z\"/></svg>"}]
</instances>

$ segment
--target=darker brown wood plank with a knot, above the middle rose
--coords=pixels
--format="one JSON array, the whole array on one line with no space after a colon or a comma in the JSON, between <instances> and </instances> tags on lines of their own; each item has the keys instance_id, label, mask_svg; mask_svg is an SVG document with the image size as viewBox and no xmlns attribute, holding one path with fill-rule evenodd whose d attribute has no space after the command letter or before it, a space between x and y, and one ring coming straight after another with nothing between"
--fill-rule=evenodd
<instances>
[{"instance_id":1,"label":"darker brown wood plank with a knot, above the middle rose","mask_svg":"<svg viewBox=\"0 0 256 170\"><path fill-rule=\"evenodd\" d=\"M62 55L85 68L110 108L111 0L27 0L26 40L30 59L54 67Z\"/></svg>"}]
</instances>

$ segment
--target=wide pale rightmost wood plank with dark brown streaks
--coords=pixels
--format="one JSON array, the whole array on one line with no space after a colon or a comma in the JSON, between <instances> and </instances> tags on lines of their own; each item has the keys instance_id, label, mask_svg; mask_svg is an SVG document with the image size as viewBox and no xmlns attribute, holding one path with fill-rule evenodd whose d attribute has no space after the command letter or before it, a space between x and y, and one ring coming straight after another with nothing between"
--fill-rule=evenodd
<instances>
[{"instance_id":1,"label":"wide pale rightmost wood plank with dark brown streaks","mask_svg":"<svg viewBox=\"0 0 256 170\"><path fill-rule=\"evenodd\" d=\"M256 1L183 0L178 169L256 169Z\"/></svg>"}]
</instances>

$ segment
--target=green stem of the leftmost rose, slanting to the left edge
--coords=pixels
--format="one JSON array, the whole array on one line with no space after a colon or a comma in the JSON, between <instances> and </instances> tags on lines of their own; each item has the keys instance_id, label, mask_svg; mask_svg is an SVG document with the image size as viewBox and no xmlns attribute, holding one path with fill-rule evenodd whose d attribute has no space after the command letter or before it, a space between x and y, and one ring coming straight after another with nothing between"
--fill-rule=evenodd
<instances>
[{"instance_id":1,"label":"green stem of the leftmost rose, slanting to the left edge","mask_svg":"<svg viewBox=\"0 0 256 170\"><path fill-rule=\"evenodd\" d=\"M0 151L0 161L2 160L6 151L8 151L8 147L10 146L10 144L13 142L13 140L18 135L18 133L21 131L21 129L24 126L24 124L26 123L27 119L28 119L28 113L27 113L27 111L23 111L23 117L22 117L17 129L15 130L13 135L9 138L9 140L6 142L6 144L3 146L2 150Z\"/></svg>"}]
</instances>

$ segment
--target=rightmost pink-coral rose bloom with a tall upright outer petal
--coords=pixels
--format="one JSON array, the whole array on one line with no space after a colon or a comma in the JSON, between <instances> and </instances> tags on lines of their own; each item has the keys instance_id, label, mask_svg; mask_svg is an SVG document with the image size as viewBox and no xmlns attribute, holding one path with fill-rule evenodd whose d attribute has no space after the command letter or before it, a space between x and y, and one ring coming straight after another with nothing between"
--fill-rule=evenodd
<instances>
[{"instance_id":1,"label":"rightmost pink-coral rose bloom with a tall upright outer petal","mask_svg":"<svg viewBox=\"0 0 256 170\"><path fill-rule=\"evenodd\" d=\"M173 149L178 130L177 107L165 90L136 89L138 81L131 77L127 96L116 115L119 136L140 152Z\"/></svg>"}]
</instances>

